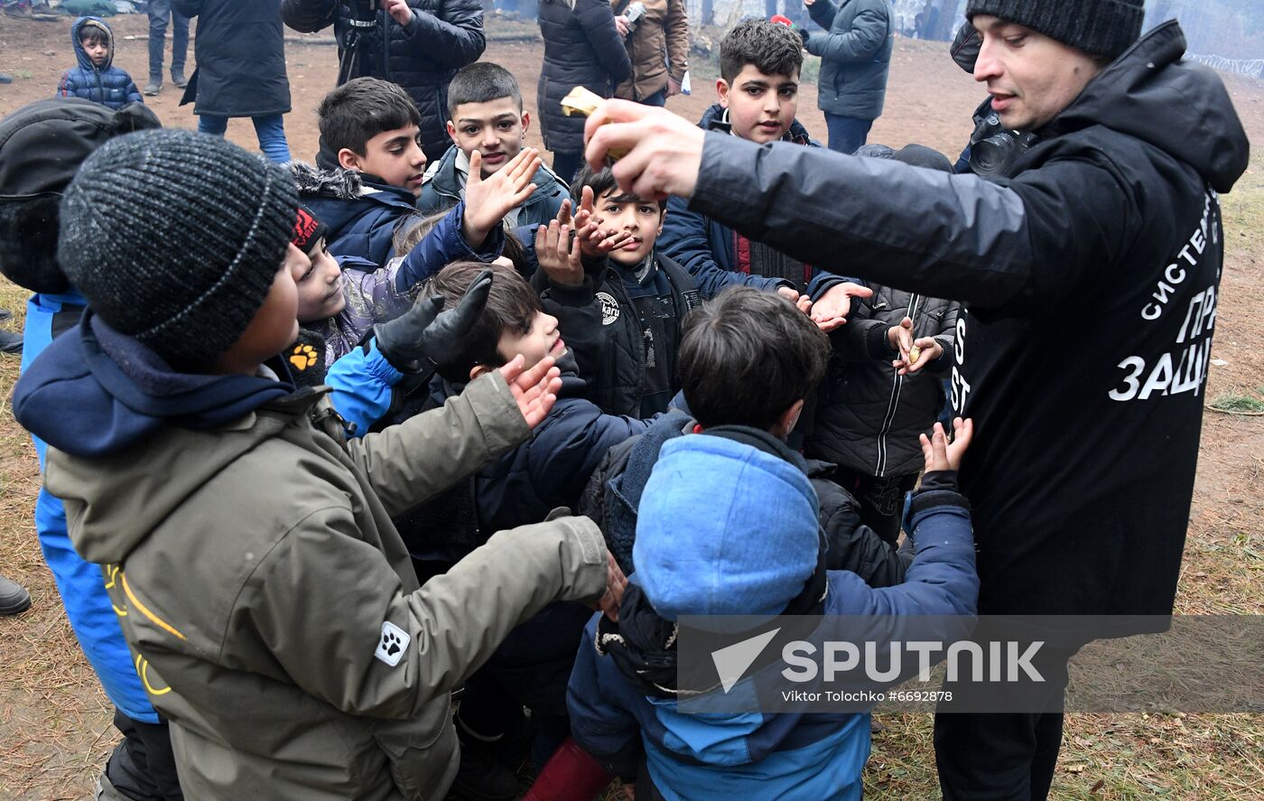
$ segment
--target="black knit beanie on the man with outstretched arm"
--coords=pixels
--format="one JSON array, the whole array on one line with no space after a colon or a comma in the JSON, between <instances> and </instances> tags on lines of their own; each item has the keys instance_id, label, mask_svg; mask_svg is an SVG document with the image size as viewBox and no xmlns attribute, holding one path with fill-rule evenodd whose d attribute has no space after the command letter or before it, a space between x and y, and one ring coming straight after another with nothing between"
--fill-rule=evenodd
<instances>
[{"instance_id":1,"label":"black knit beanie on the man with outstretched arm","mask_svg":"<svg viewBox=\"0 0 1264 801\"><path fill-rule=\"evenodd\" d=\"M1116 58L1141 35L1144 0L969 0L966 19L990 14L1091 56Z\"/></svg>"}]
</instances>

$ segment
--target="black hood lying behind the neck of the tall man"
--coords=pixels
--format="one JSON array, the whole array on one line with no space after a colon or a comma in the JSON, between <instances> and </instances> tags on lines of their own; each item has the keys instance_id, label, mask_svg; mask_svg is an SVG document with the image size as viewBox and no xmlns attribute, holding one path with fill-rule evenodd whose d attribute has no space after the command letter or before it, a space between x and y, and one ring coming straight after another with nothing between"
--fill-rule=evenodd
<instances>
[{"instance_id":1,"label":"black hood lying behind the neck of the tall man","mask_svg":"<svg viewBox=\"0 0 1264 801\"><path fill-rule=\"evenodd\" d=\"M1183 61L1184 53L1179 23L1159 25L1039 133L1058 136L1103 125L1159 148L1217 192L1229 192L1250 160L1246 131L1220 77Z\"/></svg>"}]
</instances>

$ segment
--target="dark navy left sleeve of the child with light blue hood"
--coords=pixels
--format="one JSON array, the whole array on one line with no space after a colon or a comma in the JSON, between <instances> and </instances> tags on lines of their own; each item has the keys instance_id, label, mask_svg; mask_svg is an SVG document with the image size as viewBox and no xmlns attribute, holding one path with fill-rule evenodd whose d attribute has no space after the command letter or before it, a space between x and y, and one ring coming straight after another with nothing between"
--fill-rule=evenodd
<instances>
[{"instance_id":1,"label":"dark navy left sleeve of the child with light blue hood","mask_svg":"<svg viewBox=\"0 0 1264 801\"><path fill-rule=\"evenodd\" d=\"M629 710L614 702L621 694L603 689L600 661L609 657L597 653L595 637L597 615L593 615L584 628L584 641L566 686L570 732L580 748L602 767L631 782L641 757L641 725Z\"/></svg>"}]
</instances>

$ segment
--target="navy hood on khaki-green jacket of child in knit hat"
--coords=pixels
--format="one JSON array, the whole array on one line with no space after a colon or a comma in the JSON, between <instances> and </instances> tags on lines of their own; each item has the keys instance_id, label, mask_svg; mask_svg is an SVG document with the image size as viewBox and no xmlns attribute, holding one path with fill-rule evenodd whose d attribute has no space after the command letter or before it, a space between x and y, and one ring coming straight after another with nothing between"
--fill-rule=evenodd
<instances>
[{"instance_id":1,"label":"navy hood on khaki-green jacket of child in knit hat","mask_svg":"<svg viewBox=\"0 0 1264 801\"><path fill-rule=\"evenodd\" d=\"M100 459L168 426L226 426L293 393L279 359L274 369L286 380L176 373L86 311L78 326L53 340L23 374L13 408L23 427L53 447Z\"/></svg>"}]
</instances>

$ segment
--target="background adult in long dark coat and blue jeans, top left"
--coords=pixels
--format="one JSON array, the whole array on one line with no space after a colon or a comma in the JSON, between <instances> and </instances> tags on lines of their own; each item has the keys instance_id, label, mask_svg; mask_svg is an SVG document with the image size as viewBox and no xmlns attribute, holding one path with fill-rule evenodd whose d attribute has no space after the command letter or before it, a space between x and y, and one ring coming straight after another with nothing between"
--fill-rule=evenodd
<instances>
[{"instance_id":1,"label":"background adult in long dark coat and blue jeans, top left","mask_svg":"<svg viewBox=\"0 0 1264 801\"><path fill-rule=\"evenodd\" d=\"M273 162L289 160L283 115L289 112L286 29L281 0L172 0L173 10L197 16L197 130L222 136L230 117L254 121L259 149Z\"/></svg>"}]
</instances>

